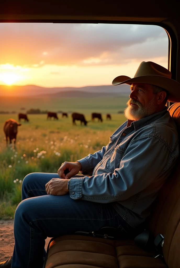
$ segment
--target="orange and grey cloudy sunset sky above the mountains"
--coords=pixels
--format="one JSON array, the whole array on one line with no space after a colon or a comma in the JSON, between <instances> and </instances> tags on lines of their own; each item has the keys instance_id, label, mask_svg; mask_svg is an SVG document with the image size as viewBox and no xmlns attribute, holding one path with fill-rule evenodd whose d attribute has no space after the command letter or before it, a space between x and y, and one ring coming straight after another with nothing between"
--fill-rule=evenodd
<instances>
[{"instance_id":1,"label":"orange and grey cloudy sunset sky above the mountains","mask_svg":"<svg viewBox=\"0 0 180 268\"><path fill-rule=\"evenodd\" d=\"M110 85L142 61L168 64L166 31L154 25L0 23L0 84Z\"/></svg>"}]
</instances>

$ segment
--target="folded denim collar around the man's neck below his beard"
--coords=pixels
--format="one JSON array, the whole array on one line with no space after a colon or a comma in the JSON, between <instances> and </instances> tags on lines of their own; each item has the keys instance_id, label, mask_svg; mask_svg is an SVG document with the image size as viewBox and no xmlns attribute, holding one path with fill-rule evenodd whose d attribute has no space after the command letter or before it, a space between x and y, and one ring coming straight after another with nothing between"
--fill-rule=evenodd
<instances>
[{"instance_id":1,"label":"folded denim collar around the man's neck below his beard","mask_svg":"<svg viewBox=\"0 0 180 268\"><path fill-rule=\"evenodd\" d=\"M151 124L151 122L157 120L158 118L162 117L166 113L167 113L167 107L165 107L162 111L160 111L158 113L151 114L150 116L147 116L147 117L144 117L140 120L132 122L132 124L134 124L135 131L142 128L143 126ZM131 126L132 126L132 124L131 124Z\"/></svg>"}]
</instances>

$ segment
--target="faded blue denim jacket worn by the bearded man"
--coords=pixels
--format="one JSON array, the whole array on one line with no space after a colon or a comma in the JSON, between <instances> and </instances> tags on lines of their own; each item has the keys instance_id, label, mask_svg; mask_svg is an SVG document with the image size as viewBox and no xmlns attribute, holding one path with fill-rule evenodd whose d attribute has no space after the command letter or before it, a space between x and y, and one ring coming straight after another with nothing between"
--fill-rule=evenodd
<instances>
[{"instance_id":1,"label":"faded blue denim jacket worn by the bearded man","mask_svg":"<svg viewBox=\"0 0 180 268\"><path fill-rule=\"evenodd\" d=\"M167 108L123 123L107 146L78 162L82 174L70 179L70 197L110 203L132 227L150 214L151 204L179 154L177 128Z\"/></svg>"}]
</instances>

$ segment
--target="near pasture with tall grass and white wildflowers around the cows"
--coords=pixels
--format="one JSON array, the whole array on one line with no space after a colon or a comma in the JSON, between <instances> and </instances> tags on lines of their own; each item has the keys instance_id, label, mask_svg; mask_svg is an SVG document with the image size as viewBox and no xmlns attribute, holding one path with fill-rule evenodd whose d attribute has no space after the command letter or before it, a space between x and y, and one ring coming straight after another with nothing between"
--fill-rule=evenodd
<instances>
[{"instance_id":1,"label":"near pasture with tall grass and white wildflowers around the cows","mask_svg":"<svg viewBox=\"0 0 180 268\"><path fill-rule=\"evenodd\" d=\"M81 111L89 121L87 126L81 126L79 121L73 126L70 115L61 118L59 114L59 120L48 121L46 114L29 114L30 121L18 127L16 147L6 147L3 124L8 118L17 120L17 114L0 115L0 218L14 217L21 201L22 180L28 173L57 173L62 162L76 161L100 150L126 120L123 114L114 113L112 120L106 121L102 110L103 122L91 122L92 110Z\"/></svg>"}]
</instances>

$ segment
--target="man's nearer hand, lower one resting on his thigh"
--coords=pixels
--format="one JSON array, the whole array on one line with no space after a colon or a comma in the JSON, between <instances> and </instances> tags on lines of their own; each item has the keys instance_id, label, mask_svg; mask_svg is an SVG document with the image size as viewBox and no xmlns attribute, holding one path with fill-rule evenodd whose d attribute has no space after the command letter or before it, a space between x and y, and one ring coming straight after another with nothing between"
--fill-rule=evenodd
<instances>
[{"instance_id":1,"label":"man's nearer hand, lower one resting on his thigh","mask_svg":"<svg viewBox=\"0 0 180 268\"><path fill-rule=\"evenodd\" d=\"M53 178L45 185L48 195L66 195L68 190L68 180Z\"/></svg>"}]
</instances>

